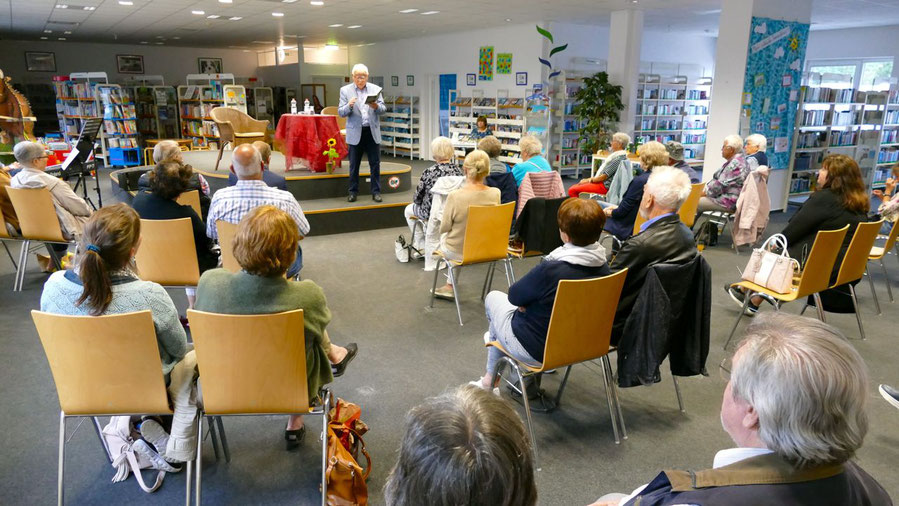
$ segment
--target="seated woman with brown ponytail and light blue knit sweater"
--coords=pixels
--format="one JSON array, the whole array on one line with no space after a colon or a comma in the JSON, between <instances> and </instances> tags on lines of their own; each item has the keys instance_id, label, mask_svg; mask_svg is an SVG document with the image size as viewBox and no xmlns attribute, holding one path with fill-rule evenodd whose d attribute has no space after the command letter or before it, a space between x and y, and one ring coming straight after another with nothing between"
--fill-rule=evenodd
<instances>
[{"instance_id":1,"label":"seated woman with brown ponytail and light blue knit sweater","mask_svg":"<svg viewBox=\"0 0 899 506\"><path fill-rule=\"evenodd\" d=\"M72 316L101 316L150 310L162 372L174 409L171 434L151 441L169 462L194 459L197 448L196 358L187 343L178 310L160 285L141 281L133 270L140 247L140 218L125 204L101 208L84 225L75 268L56 272L44 284L41 311ZM144 421L144 426L156 422ZM142 427L144 429L144 427ZM144 434L146 436L146 429ZM164 443L165 439L168 442ZM176 469L166 469L175 471Z\"/></svg>"}]
</instances>

